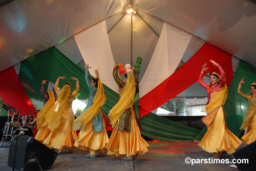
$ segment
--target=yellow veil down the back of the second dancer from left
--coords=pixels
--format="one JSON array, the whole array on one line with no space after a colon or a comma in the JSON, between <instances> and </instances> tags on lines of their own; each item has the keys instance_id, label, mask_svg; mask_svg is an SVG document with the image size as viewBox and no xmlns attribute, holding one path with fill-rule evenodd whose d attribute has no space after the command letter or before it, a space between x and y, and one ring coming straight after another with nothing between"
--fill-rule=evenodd
<instances>
[{"instance_id":1,"label":"yellow veil down the back of the second dancer from left","mask_svg":"<svg viewBox=\"0 0 256 171\"><path fill-rule=\"evenodd\" d=\"M64 85L59 93L58 99L55 105L45 115L46 121L42 126L48 125L50 131L57 131L60 125L62 115L67 112L67 103L70 96L70 86Z\"/></svg>"}]
</instances>

